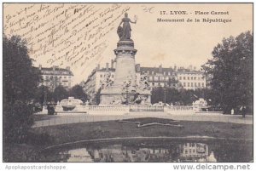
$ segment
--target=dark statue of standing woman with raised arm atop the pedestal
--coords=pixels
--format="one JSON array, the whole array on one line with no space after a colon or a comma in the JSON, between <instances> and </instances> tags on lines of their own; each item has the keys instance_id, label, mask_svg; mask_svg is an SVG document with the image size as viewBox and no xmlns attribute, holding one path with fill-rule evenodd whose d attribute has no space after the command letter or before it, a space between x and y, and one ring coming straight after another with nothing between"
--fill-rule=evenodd
<instances>
[{"instance_id":1,"label":"dark statue of standing woman with raised arm atop the pedestal","mask_svg":"<svg viewBox=\"0 0 256 171\"><path fill-rule=\"evenodd\" d=\"M120 22L118 31L117 31L120 40L130 40L131 39L130 23L136 24L136 22L137 22L137 20L135 20L134 22L131 21L128 18L128 14L125 13L125 18L123 18L122 21ZM123 23L123 27L121 26L122 23Z\"/></svg>"}]
</instances>

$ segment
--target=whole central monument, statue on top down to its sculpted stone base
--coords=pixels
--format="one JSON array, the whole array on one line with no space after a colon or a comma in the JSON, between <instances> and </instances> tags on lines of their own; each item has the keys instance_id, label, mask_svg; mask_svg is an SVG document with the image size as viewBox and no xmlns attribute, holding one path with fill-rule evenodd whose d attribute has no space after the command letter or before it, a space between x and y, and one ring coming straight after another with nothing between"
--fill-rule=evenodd
<instances>
[{"instance_id":1,"label":"whole central monument, statue on top down to its sculpted stone base","mask_svg":"<svg viewBox=\"0 0 256 171\"><path fill-rule=\"evenodd\" d=\"M113 50L116 55L114 81L105 83L108 86L102 88L100 105L151 105L147 76L142 76L139 84L136 81L137 49L134 48L134 42L131 40L130 23L136 24L137 20L131 21L125 13L125 18L121 20L117 30L119 42L117 48Z\"/></svg>"}]
</instances>

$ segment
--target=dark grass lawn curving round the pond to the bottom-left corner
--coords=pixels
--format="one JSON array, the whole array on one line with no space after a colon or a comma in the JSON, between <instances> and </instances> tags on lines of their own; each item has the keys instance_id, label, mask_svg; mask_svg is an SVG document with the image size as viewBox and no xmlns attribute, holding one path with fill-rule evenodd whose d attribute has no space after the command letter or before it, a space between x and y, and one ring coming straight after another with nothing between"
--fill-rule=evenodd
<instances>
[{"instance_id":1,"label":"dark grass lawn curving round the pond to the bottom-left corner","mask_svg":"<svg viewBox=\"0 0 256 171\"><path fill-rule=\"evenodd\" d=\"M148 124L147 127L138 127ZM150 125L162 123L182 125ZM94 123L72 123L49 127L32 128L26 144L4 145L3 161L41 161L38 152L50 145L59 145L79 140L125 137L187 137L210 136L216 138L236 138L253 140L253 125L237 123L217 123L198 121L174 121L154 117L125 119L123 121L103 121Z\"/></svg>"}]
</instances>

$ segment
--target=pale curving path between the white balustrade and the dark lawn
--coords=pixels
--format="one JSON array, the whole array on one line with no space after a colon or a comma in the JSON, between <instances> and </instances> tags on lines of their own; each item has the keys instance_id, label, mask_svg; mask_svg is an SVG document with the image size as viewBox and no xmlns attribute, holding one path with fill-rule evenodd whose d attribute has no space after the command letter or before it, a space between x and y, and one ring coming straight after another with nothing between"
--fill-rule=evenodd
<instances>
[{"instance_id":1,"label":"pale curving path between the white balustrade and the dark lawn","mask_svg":"<svg viewBox=\"0 0 256 171\"><path fill-rule=\"evenodd\" d=\"M88 122L100 122L100 121L111 121L119 119L137 118L137 117L159 117L174 120L183 121L212 121L212 122L223 122L223 123L242 123L242 124L253 124L253 117L247 116L242 118L241 115L223 115L217 113L196 113L196 114L167 114L165 112L137 112L129 113L125 115L89 115L89 114L65 114L61 116L48 117L47 115L38 116L38 121L35 122L33 127L46 127L50 125L60 125L68 123L88 123ZM40 118L42 120L40 120Z\"/></svg>"}]
</instances>

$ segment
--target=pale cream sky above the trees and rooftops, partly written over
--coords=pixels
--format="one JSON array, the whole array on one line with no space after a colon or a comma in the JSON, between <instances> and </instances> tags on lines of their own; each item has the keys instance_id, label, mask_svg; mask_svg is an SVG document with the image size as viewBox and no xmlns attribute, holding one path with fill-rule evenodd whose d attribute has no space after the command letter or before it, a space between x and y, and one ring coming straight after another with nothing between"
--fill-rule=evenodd
<instances>
[{"instance_id":1,"label":"pale cream sky above the trees and rooftops, partly written over","mask_svg":"<svg viewBox=\"0 0 256 171\"><path fill-rule=\"evenodd\" d=\"M116 30L125 11L137 20L131 24L131 38L137 49L136 63L141 66L199 69L224 37L253 30L250 3L11 3L3 6L3 31L27 40L34 66L70 66L74 83L80 83L97 64L103 67L115 58Z\"/></svg>"}]
</instances>

